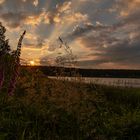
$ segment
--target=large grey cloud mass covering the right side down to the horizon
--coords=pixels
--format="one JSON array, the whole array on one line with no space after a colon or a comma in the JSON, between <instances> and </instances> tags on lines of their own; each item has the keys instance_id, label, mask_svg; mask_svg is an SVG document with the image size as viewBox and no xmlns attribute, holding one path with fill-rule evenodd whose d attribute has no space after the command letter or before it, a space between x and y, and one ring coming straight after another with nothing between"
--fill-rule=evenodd
<instances>
[{"instance_id":1,"label":"large grey cloud mass covering the right side down to the horizon","mask_svg":"<svg viewBox=\"0 0 140 140\"><path fill-rule=\"evenodd\" d=\"M82 45L90 48L89 60L79 61L79 66L100 67L105 64L140 68L140 10L121 17L111 26L84 25L77 27L69 38L80 39ZM98 53L94 53L97 51ZM92 59L96 57L96 59Z\"/></svg>"}]
</instances>

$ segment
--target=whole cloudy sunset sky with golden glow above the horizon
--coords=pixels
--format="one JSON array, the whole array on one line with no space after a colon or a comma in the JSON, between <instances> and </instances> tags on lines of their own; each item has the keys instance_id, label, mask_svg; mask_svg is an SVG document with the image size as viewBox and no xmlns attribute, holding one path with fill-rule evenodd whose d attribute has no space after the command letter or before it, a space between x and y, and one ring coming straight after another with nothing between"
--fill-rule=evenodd
<instances>
[{"instance_id":1,"label":"whole cloudy sunset sky with golden glow above the horizon","mask_svg":"<svg viewBox=\"0 0 140 140\"><path fill-rule=\"evenodd\" d=\"M0 0L0 22L26 63L54 65L61 37L77 67L140 69L140 0Z\"/></svg>"}]
</instances>

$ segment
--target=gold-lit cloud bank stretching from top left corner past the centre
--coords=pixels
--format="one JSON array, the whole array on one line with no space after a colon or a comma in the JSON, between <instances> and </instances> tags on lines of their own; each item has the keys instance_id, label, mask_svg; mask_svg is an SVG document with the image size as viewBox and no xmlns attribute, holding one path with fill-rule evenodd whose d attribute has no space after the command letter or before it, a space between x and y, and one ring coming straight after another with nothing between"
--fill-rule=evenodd
<instances>
[{"instance_id":1,"label":"gold-lit cloud bank stretching from top left corner past the centre","mask_svg":"<svg viewBox=\"0 0 140 140\"><path fill-rule=\"evenodd\" d=\"M47 0L45 0L47 3ZM58 3L55 8L47 11L39 6L38 0L6 0L0 4L0 18L8 26L16 28L20 25L36 25L41 22L55 24L79 22L87 20L87 15L71 11L71 1Z\"/></svg>"}]
</instances>

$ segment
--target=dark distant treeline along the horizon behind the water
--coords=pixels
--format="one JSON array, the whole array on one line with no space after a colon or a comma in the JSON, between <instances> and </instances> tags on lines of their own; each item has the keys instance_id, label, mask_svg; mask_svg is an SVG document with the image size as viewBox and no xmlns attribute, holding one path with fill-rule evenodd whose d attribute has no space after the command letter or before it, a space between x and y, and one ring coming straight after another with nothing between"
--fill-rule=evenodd
<instances>
[{"instance_id":1,"label":"dark distant treeline along the horizon behind the water","mask_svg":"<svg viewBox=\"0 0 140 140\"><path fill-rule=\"evenodd\" d=\"M81 69L55 66L22 66L22 69L40 70L46 76L82 76L82 77L106 77L106 78L140 78L140 70L121 69Z\"/></svg>"}]
</instances>

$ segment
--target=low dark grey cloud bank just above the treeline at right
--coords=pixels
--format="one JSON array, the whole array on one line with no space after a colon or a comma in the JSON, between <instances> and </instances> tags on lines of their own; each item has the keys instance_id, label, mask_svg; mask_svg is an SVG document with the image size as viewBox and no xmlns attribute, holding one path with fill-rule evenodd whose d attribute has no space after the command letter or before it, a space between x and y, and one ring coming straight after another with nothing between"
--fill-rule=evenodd
<instances>
[{"instance_id":1,"label":"low dark grey cloud bank just above the treeline at right","mask_svg":"<svg viewBox=\"0 0 140 140\"><path fill-rule=\"evenodd\" d=\"M116 65L115 68L120 66L126 66L126 68L139 68L140 67L140 42L135 42L134 44L129 45L128 43L122 42L111 46L109 48L103 49L100 53L93 54L97 58L95 60L83 60L79 61L81 66L92 66L100 67L106 64L107 67L112 63ZM126 46L126 47L125 47ZM118 67L117 67L118 66ZM107 68L106 67L106 68ZM105 68L105 67L104 67Z\"/></svg>"}]
</instances>

